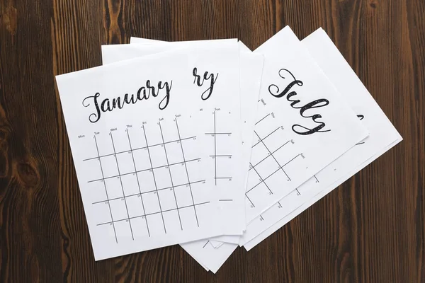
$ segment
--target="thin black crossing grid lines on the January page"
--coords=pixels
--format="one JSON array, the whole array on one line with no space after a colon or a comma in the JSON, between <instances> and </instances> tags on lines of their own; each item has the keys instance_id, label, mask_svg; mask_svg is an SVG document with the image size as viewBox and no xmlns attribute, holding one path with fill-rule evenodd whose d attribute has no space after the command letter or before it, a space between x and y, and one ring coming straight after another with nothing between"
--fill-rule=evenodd
<instances>
[{"instance_id":1,"label":"thin black crossing grid lines on the January page","mask_svg":"<svg viewBox=\"0 0 425 283\"><path fill-rule=\"evenodd\" d=\"M174 118L173 120L174 122L170 125L172 127L175 127L176 129L176 135L178 137L178 139L174 138L170 141L166 141L165 137L164 137L164 128L162 125L162 122L157 122L157 138L159 138L162 142L161 143L157 143L157 144L149 144L149 137L148 135L150 134L150 132L147 131L147 129L145 128L146 125L145 123L142 125L141 127L141 140L142 141L142 145L140 147L133 147L132 144L132 139L130 137L130 128L132 126L127 126L127 129L125 129L125 136L126 137L122 137L123 139L118 139L117 138L117 134L115 132L108 131L109 134L109 141L108 139L106 139L106 137L102 137L102 139L104 139L104 142L106 141L106 145L108 146L108 143L111 146L111 151L112 153L109 154L108 152L106 152L106 154L101 155L100 151L99 151L99 145L98 145L98 139L101 136L97 136L99 133L95 133L94 134L94 141L96 144L96 156L95 157L91 157L91 158L86 158L83 161L94 161L94 160L98 160L99 162L99 166L101 169L101 178L96 178L94 180L89 180L87 181L88 183L94 183L94 182L101 182L103 183L102 187L105 191L106 194L106 199L105 200L99 200L96 202L92 202L92 204L108 204L108 210L109 210L109 216L111 216L110 219L103 219L103 221L100 221L101 223L97 224L97 226L102 226L105 224L111 224L111 227L113 228L114 231L114 237L115 237L115 242L118 243L118 226L116 226L115 224L118 222L128 222L129 225L129 231L128 231L128 235L130 236L131 233L131 237L133 240L135 240L135 230L133 227L135 225L135 222L133 223L133 219L137 219L142 217L143 219L145 219L145 224L146 224L146 229L147 229L147 236L151 237L152 235L152 223L150 223L149 225L149 220L147 219L148 216L152 216L152 215L161 215L162 218L162 226L164 228L163 233L167 233L169 232L168 230L171 229L170 227L172 227L173 225L171 224L171 222L166 222L165 220L165 216L164 213L170 213L170 212L174 212L176 213L176 219L177 217L179 218L179 224L176 224L174 227L174 229L178 229L177 227L179 227L179 231L183 231L183 219L182 219L182 215L181 214L181 210L182 209L192 209L193 208L193 212L194 212L194 217L193 220L196 219L196 224L195 222L193 222L193 224L195 226L200 226L199 224L199 219L198 219L198 212L196 207L200 206L200 205L205 205L205 204L209 204L209 201L204 201L204 202L198 202L196 203L194 200L194 196L193 196L193 185L195 184L200 184L200 183L205 183L205 180L193 180L191 181L191 178L189 176L189 172L188 172L188 166L187 163L191 163L193 161L200 161L201 158L193 158L193 159L186 159L186 152L183 149L183 142L182 141L187 141L187 140L195 140L196 136L191 136L191 137L181 137L181 132L180 132L180 128L179 128L179 122L177 120L177 118ZM171 121L170 121L171 122ZM115 129L116 130L116 129ZM155 131L152 132L152 134L155 135ZM128 150L123 150L122 147L117 146L118 140L120 140L120 142L124 141L124 146L128 147ZM167 148L166 144L180 144L180 146L176 147L177 150L176 153L181 152L180 154L180 160L174 160L172 161L173 163L170 163L169 161L171 161L171 159L169 159L169 148ZM157 166L154 166L154 162L157 162L153 159L157 158L156 155L152 155L153 150L151 152L151 149L154 148L154 146L161 146L164 147L164 160L161 161L163 163L159 163L156 164ZM120 151L117 151L116 149L120 148ZM147 156L145 157L145 161L147 162L147 167L148 168L143 168L142 170L137 170L137 166L136 166L136 156L135 156L135 151L140 150L140 149L145 149ZM111 152L110 151L110 152ZM160 152L160 151L159 151ZM128 154L128 156L130 156L130 159L128 159L129 163L128 163L128 167L126 168L127 170L125 171L125 173L123 172L123 164L121 164L122 161L118 160L120 158L118 158L118 156L120 154ZM108 156L113 156L112 159L110 161L106 161L103 160L103 158L107 158ZM193 156L193 157L197 157L197 156ZM164 165L165 163L165 165ZM176 183L176 175L173 175L171 172L171 167L172 166L177 166L177 165L181 165L183 166L183 171L185 171L184 173L184 178L182 180L179 179L179 183ZM110 168L108 169L108 171L105 171L106 167ZM155 171L156 169L159 168L165 168L166 171ZM113 170L113 171L111 171ZM130 171L130 172L127 172ZM108 172L108 175L105 175L105 172ZM140 172L149 172L148 175L150 176L149 178L151 178L152 180L152 187L149 187L147 191L143 191L142 190L142 179L140 179L140 175L138 173ZM150 175L150 173L152 172L152 175ZM169 176L169 180L166 181L167 183L164 183L164 185L162 185L161 187L159 187L160 183L159 179L162 175L161 174L166 174ZM174 172L173 172L174 173ZM159 175L158 175L159 174ZM130 194L126 195L125 190L127 187L127 183L125 183L125 180L122 179L123 176L125 175L133 175L135 176L135 179L132 179L134 182L133 183L133 188L136 191L132 191L130 192ZM164 175L164 176L166 176ZM168 176L166 177L168 179ZM118 178L119 181L118 183L115 183L116 185L112 185L112 183L108 183L107 180L111 180L113 178ZM130 180L130 179L128 179ZM163 178L161 177L161 180L163 180ZM108 184L106 184L108 183ZM171 183L171 184L170 184ZM175 190L176 187L185 187L186 189L182 189L183 191L181 191L181 193L183 194L182 196L185 197L186 195L186 200L183 198L182 201L180 202L177 192ZM114 188L115 187L115 188ZM115 190L115 193L113 195L111 195L111 190ZM166 190L170 190L171 192L166 192ZM186 192L184 190L187 190ZM189 194L190 191L190 195ZM163 195L160 196L159 192L163 192ZM118 193L118 195L116 195ZM149 196L149 193L153 193L154 195L156 195L156 197L154 195ZM166 197L163 199L163 196ZM130 211L130 209L136 209L137 202L134 202L133 200L130 200L130 197L140 197L140 201L141 201L141 207L139 208L140 210L138 212L136 212L136 210L134 212ZM152 198L154 197L154 202L152 202L152 200L150 200L149 202L145 202L145 200L147 200L145 197ZM156 200L155 200L156 199ZM190 202L189 202L190 200ZM120 202L122 201L122 204L114 204L113 202L117 201ZM129 207L129 204L131 204L131 206ZM146 205L148 205L148 207L151 207L149 209L149 211L147 210ZM164 207L164 205L165 207ZM180 205L179 205L180 204ZM118 205L118 207L117 207ZM156 205L156 208L152 207L152 205ZM119 210L115 210L115 209L119 209ZM115 212L118 212L118 214L115 215ZM131 212L131 213L130 213ZM184 215L188 215L188 214L184 214ZM171 216L170 216L171 217ZM171 218L170 218L171 219ZM107 221L105 221L107 220ZM171 220L167 220L167 221L171 221ZM143 226L145 224L142 224ZM169 226L170 224L170 226ZM179 225L179 226L177 226ZM145 230L146 231L146 230Z\"/></svg>"}]
</instances>

